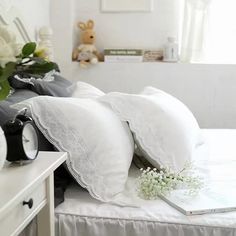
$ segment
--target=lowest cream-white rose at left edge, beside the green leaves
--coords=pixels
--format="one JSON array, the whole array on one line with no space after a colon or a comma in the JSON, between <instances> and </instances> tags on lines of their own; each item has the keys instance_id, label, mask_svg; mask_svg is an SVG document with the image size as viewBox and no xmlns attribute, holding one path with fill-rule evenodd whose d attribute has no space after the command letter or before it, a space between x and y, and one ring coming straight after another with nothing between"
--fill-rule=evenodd
<instances>
[{"instance_id":1,"label":"lowest cream-white rose at left edge, beside the green leaves","mask_svg":"<svg viewBox=\"0 0 236 236\"><path fill-rule=\"evenodd\" d=\"M0 37L0 66L5 67L8 62L16 61L16 52L11 44L6 43L6 41Z\"/></svg>"}]
</instances>

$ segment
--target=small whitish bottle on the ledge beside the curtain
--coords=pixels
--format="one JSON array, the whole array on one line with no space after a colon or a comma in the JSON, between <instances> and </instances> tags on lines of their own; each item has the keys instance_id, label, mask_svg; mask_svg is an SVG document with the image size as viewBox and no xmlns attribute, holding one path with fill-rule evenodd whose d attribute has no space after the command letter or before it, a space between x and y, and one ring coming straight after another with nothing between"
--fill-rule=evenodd
<instances>
[{"instance_id":1,"label":"small whitish bottle on the ledge beside the curtain","mask_svg":"<svg viewBox=\"0 0 236 236\"><path fill-rule=\"evenodd\" d=\"M164 58L165 62L177 62L179 60L178 56L178 44L174 37L168 37L167 43L164 46Z\"/></svg>"}]
</instances>

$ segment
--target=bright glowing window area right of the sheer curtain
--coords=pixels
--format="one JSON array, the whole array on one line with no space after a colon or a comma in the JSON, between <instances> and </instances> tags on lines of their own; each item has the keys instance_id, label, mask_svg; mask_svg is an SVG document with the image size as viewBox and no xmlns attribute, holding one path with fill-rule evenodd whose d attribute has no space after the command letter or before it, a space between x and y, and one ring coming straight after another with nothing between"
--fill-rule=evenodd
<instances>
[{"instance_id":1,"label":"bright glowing window area right of the sheer curtain","mask_svg":"<svg viewBox=\"0 0 236 236\"><path fill-rule=\"evenodd\" d=\"M236 0L212 0L203 62L236 64Z\"/></svg>"}]
</instances>

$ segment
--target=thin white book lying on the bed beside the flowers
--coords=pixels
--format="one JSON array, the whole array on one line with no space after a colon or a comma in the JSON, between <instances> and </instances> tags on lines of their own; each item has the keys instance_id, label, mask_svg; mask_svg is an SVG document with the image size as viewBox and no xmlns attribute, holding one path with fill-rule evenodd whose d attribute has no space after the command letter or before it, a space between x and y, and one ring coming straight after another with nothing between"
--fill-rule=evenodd
<instances>
[{"instance_id":1,"label":"thin white book lying on the bed beside the flowers","mask_svg":"<svg viewBox=\"0 0 236 236\"><path fill-rule=\"evenodd\" d=\"M174 190L168 196L161 197L169 205L185 215L201 215L236 210L236 197L232 190L205 190L196 196L186 194L186 190Z\"/></svg>"}]
</instances>

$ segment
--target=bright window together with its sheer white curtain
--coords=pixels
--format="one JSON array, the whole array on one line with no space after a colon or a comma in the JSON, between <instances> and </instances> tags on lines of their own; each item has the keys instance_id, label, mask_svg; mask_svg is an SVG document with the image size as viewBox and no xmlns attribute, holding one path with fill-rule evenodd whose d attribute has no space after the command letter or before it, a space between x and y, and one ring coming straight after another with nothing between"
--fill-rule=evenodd
<instances>
[{"instance_id":1,"label":"bright window together with its sheer white curtain","mask_svg":"<svg viewBox=\"0 0 236 236\"><path fill-rule=\"evenodd\" d=\"M180 59L236 64L236 0L184 0Z\"/></svg>"}]
</instances>

